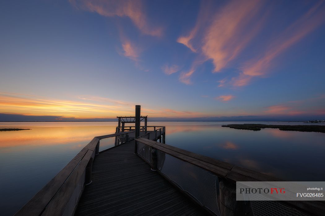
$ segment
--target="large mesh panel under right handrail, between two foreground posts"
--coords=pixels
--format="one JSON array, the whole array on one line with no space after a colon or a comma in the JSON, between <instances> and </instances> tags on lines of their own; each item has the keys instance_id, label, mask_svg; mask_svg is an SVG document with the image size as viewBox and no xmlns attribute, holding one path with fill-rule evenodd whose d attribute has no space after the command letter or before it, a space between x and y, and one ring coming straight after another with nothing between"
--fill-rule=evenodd
<instances>
[{"instance_id":1,"label":"large mesh panel under right handrail, between two foreground posts","mask_svg":"<svg viewBox=\"0 0 325 216\"><path fill-rule=\"evenodd\" d=\"M217 203L217 176L169 154L158 152L158 170L195 198L202 206L220 216Z\"/></svg>"}]
</instances>

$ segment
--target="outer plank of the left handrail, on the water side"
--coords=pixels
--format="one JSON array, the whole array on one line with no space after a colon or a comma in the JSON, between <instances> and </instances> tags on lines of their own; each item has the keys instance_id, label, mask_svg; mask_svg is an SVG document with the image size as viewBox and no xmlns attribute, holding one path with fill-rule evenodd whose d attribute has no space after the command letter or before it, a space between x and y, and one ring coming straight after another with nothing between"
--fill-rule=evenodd
<instances>
[{"instance_id":1,"label":"outer plank of the left handrail, on the water side","mask_svg":"<svg viewBox=\"0 0 325 216\"><path fill-rule=\"evenodd\" d=\"M90 142L91 143L91 142ZM30 199L15 215L41 215L46 205L58 192L59 188L79 164L88 149L83 148L54 178L52 178L32 199Z\"/></svg>"}]
</instances>

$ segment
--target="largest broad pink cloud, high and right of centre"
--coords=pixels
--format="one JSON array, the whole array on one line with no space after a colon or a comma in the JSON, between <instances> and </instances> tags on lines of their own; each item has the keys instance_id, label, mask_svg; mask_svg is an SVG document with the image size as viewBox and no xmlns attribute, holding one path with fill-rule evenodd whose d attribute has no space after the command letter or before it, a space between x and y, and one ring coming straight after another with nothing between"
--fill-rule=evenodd
<instances>
[{"instance_id":1,"label":"largest broad pink cloud, high and right of centre","mask_svg":"<svg viewBox=\"0 0 325 216\"><path fill-rule=\"evenodd\" d=\"M231 1L216 15L204 34L202 53L212 59L214 72L219 72L238 56L261 27L253 22L262 1Z\"/></svg>"}]
</instances>

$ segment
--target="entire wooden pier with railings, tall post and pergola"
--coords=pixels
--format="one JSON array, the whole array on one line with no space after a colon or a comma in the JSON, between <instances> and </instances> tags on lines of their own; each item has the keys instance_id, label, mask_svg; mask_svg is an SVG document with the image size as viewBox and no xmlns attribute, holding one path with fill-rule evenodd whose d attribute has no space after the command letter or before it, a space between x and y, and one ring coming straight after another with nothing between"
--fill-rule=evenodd
<instances>
[{"instance_id":1,"label":"entire wooden pier with railings, tall post and pergola","mask_svg":"<svg viewBox=\"0 0 325 216\"><path fill-rule=\"evenodd\" d=\"M165 144L147 116L117 117L15 215L323 215L324 201L236 201L236 181L273 176ZM144 126L140 126L144 120ZM135 123L135 126L126 124ZM99 152L100 140L114 146Z\"/></svg>"}]
</instances>

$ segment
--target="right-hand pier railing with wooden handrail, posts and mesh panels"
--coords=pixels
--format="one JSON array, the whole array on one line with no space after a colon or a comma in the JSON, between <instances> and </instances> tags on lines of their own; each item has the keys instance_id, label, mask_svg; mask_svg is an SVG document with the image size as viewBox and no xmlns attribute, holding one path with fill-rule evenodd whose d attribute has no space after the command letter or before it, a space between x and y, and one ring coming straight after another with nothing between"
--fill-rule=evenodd
<instances>
[{"instance_id":1,"label":"right-hand pier railing with wooden handrail, posts and mesh panels","mask_svg":"<svg viewBox=\"0 0 325 216\"><path fill-rule=\"evenodd\" d=\"M324 201L236 201L236 181L281 181L273 176L192 153L145 137L137 153L152 170L212 215L323 215Z\"/></svg>"}]
</instances>

